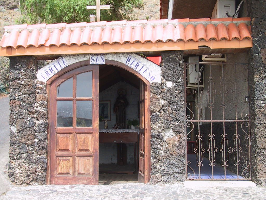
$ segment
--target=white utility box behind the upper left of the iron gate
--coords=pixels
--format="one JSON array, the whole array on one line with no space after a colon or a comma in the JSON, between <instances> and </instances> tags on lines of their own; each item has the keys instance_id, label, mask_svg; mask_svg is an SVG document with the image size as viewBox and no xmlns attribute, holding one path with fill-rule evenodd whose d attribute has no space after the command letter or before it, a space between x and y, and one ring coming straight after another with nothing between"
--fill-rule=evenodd
<instances>
[{"instance_id":1,"label":"white utility box behind the upper left of the iron gate","mask_svg":"<svg viewBox=\"0 0 266 200\"><path fill-rule=\"evenodd\" d=\"M188 58L189 63L198 63L199 57L198 56L190 56ZM201 77L200 79L200 85L203 85L203 76L202 76L203 68L200 68L199 64L189 64L187 76L188 76L188 86L196 87L199 86L198 84L198 77Z\"/></svg>"}]
</instances>

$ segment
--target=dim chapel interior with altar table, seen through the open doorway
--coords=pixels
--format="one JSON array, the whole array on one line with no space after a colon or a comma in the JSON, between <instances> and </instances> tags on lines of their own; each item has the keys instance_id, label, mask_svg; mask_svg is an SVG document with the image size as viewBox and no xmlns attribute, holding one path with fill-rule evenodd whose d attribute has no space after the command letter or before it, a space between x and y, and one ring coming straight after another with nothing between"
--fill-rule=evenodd
<instances>
[{"instance_id":1,"label":"dim chapel interior with altar table, seen through the open doorway","mask_svg":"<svg viewBox=\"0 0 266 200\"><path fill-rule=\"evenodd\" d=\"M99 184L138 182L139 127L132 132L127 121L139 121L139 87L140 79L129 71L99 65ZM125 122L115 130L119 95Z\"/></svg>"}]
</instances>

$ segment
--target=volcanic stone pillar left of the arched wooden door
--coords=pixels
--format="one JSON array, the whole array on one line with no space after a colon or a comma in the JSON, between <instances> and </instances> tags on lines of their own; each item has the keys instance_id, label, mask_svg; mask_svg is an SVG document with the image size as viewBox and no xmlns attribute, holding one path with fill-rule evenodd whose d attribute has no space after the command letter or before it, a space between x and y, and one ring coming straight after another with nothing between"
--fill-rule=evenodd
<instances>
[{"instance_id":1,"label":"volcanic stone pillar left of the arched wooden door","mask_svg":"<svg viewBox=\"0 0 266 200\"><path fill-rule=\"evenodd\" d=\"M10 57L8 176L17 185L46 183L47 94L37 70L34 57Z\"/></svg>"}]
</instances>

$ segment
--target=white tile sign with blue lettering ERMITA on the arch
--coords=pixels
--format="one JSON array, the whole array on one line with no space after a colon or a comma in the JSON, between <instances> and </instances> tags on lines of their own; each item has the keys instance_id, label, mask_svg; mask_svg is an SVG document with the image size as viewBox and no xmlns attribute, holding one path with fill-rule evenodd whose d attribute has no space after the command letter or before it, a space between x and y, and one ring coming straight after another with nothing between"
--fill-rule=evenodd
<instances>
[{"instance_id":1,"label":"white tile sign with blue lettering ERMITA on the arch","mask_svg":"<svg viewBox=\"0 0 266 200\"><path fill-rule=\"evenodd\" d=\"M40 81L46 82L49 78L66 66L68 66L68 63L64 57L56 59L52 63L38 70L37 78Z\"/></svg>"}]
</instances>

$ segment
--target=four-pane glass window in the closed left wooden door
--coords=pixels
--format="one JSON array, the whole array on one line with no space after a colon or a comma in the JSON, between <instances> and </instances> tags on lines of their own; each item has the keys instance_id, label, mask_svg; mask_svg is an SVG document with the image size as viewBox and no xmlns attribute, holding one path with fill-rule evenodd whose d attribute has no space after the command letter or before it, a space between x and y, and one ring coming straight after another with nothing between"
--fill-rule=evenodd
<instances>
[{"instance_id":1,"label":"four-pane glass window in the closed left wooden door","mask_svg":"<svg viewBox=\"0 0 266 200\"><path fill-rule=\"evenodd\" d=\"M88 79L86 79L86 76L88 76ZM77 78L78 78L78 83L77 83ZM81 81L79 81L79 79ZM69 87L68 91L67 91L67 86ZM82 90L78 90L77 88L81 86ZM64 81L59 86L57 86L57 98L56 98L57 127L93 126L92 87L93 87L92 71L74 75L73 77L69 78L68 80ZM88 92L86 92L86 90L88 90ZM71 95L69 94L69 91L72 91L72 97L70 97ZM77 97L77 93L79 93L79 96L81 97ZM82 96L88 96L88 97L82 97ZM66 103L63 103L63 101L68 102L67 103L68 106L66 106ZM72 109L70 109L69 107L70 102L72 102ZM85 104L87 104L87 106Z\"/></svg>"}]
</instances>

